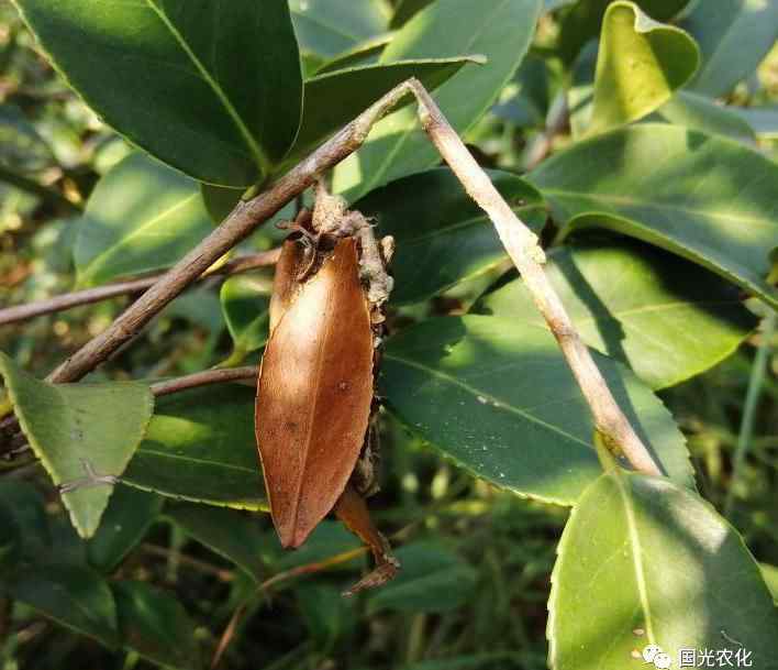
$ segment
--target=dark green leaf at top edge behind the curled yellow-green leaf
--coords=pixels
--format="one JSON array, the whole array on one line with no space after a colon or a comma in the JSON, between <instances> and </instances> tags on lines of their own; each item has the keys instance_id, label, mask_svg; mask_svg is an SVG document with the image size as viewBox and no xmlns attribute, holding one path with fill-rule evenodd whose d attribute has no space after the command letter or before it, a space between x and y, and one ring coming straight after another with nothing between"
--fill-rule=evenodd
<instances>
[{"instance_id":1,"label":"dark green leaf at top edge behind the curled yellow-green leaf","mask_svg":"<svg viewBox=\"0 0 778 670\"><path fill-rule=\"evenodd\" d=\"M571 63L581 47L600 33L602 18L612 0L578 0L559 23L559 54ZM669 21L689 0L638 0L637 6L655 21Z\"/></svg>"}]
</instances>

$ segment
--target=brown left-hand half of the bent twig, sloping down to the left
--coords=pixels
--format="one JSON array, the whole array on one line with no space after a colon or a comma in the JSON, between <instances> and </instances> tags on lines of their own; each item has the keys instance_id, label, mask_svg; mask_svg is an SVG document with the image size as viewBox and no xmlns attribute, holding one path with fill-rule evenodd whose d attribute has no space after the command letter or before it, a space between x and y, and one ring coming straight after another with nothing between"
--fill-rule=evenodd
<instances>
[{"instance_id":1,"label":"brown left-hand half of the bent twig, sloping down to the left","mask_svg":"<svg viewBox=\"0 0 778 670\"><path fill-rule=\"evenodd\" d=\"M410 89L407 83L394 87L266 191L251 200L241 200L219 228L135 300L107 330L52 372L47 381L75 382L95 370L122 344L133 339L163 307L194 282L222 254L311 186L316 175L362 146L376 121L408 92Z\"/></svg>"}]
</instances>

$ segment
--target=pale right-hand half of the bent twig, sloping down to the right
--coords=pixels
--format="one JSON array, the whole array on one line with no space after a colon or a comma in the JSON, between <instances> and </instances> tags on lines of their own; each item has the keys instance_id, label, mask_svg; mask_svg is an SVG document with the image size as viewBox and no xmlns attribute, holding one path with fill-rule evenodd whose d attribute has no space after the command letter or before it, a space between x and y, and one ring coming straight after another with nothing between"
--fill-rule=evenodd
<instances>
[{"instance_id":1,"label":"pale right-hand half of the bent twig, sloping down to the right","mask_svg":"<svg viewBox=\"0 0 778 670\"><path fill-rule=\"evenodd\" d=\"M621 450L635 470L647 474L662 474L651 452L613 398L589 350L567 316L562 300L548 282L542 266L545 255L537 244L537 237L508 206L426 89L415 79L411 80L410 86L419 100L422 127L465 190L491 219L508 255L532 294L535 306L559 343L589 404L597 431L610 448Z\"/></svg>"}]
</instances>

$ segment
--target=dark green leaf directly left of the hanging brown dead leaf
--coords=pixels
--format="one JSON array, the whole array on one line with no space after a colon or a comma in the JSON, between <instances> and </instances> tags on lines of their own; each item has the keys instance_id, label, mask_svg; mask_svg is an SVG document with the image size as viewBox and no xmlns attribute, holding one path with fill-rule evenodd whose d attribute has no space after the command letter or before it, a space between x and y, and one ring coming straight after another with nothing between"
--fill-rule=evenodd
<instances>
[{"instance_id":1,"label":"dark green leaf directly left of the hanging brown dead leaf","mask_svg":"<svg viewBox=\"0 0 778 670\"><path fill-rule=\"evenodd\" d=\"M163 396L122 482L162 495L265 508L254 388L220 384Z\"/></svg>"}]
</instances>

